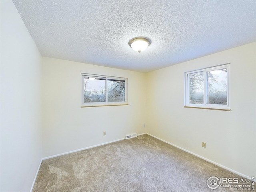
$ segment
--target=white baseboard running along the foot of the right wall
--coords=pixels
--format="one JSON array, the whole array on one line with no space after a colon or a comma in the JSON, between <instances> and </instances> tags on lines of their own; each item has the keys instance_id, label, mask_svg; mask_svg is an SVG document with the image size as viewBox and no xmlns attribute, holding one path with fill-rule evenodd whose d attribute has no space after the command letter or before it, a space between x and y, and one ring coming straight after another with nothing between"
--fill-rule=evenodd
<instances>
[{"instance_id":1,"label":"white baseboard running along the foot of the right wall","mask_svg":"<svg viewBox=\"0 0 256 192\"><path fill-rule=\"evenodd\" d=\"M230 169L230 168L228 168L228 167L226 167L226 166L223 166L223 165L221 165L221 164L218 164L218 163L216 163L216 162L214 162L214 161L212 161L212 160L210 160L210 159L204 158L203 156L200 156L200 155L198 155L198 154L196 154L196 153L193 153L193 152L191 152L191 151L189 151L189 150L186 150L186 149L184 149L184 148L181 148L181 147L179 147L179 146L177 146L177 145L174 145L174 144L172 144L172 143L170 143L170 142L167 142L167 141L165 141L165 140L162 140L162 139L160 139L160 138L158 138L158 137L156 137L156 136L154 136L154 135L151 135L151 134L149 134L149 133L147 133L147 134L150 135L150 136L152 136L152 137L154 137L154 138L156 138L156 139L158 139L158 140L160 140L160 141L163 141L163 142L165 142L165 143L168 143L168 144L170 144L170 145L172 145L172 146L174 146L174 147L176 147L176 148L179 148L179 149L181 149L181 150L183 150L183 151L186 151L186 152L188 152L188 153L190 153L190 154L192 154L192 155L194 155L194 156L197 156L197 157L199 157L199 158L201 158L201 159L204 159L204 160L206 160L206 161L208 161L208 162L210 162L210 163L212 163L212 164L214 164L214 165L217 165L217 166L219 166L219 167L221 167L221 168L224 168L224 169L226 169L226 170L228 170L228 171L230 171L230 172L233 172L233 173L235 173L235 174L238 174L238 175L240 175L240 176L242 176L242 177L244 177L244 178L250 178L249 176L246 176L246 175L244 175L244 174L242 174L242 173L240 173L240 172L237 172L237 171L232 170L232 169Z\"/></svg>"}]
</instances>

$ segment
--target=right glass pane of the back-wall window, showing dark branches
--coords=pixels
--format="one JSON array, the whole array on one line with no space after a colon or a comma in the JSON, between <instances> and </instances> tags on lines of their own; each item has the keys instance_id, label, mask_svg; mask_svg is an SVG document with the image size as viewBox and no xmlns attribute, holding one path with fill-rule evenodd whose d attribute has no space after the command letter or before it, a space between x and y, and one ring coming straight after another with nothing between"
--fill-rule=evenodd
<instances>
[{"instance_id":1,"label":"right glass pane of the back-wall window, showing dark branches","mask_svg":"<svg viewBox=\"0 0 256 192\"><path fill-rule=\"evenodd\" d=\"M125 81L108 79L108 102L125 101Z\"/></svg>"}]
</instances>

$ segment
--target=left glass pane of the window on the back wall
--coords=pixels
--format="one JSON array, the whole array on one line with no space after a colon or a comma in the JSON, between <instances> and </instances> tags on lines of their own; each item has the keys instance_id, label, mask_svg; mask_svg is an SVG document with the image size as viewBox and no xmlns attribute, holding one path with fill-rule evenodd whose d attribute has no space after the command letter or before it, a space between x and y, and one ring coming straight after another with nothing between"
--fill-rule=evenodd
<instances>
[{"instance_id":1,"label":"left glass pane of the window on the back wall","mask_svg":"<svg viewBox=\"0 0 256 192\"><path fill-rule=\"evenodd\" d=\"M106 80L95 78L90 80L84 77L84 103L106 102Z\"/></svg>"}]
</instances>

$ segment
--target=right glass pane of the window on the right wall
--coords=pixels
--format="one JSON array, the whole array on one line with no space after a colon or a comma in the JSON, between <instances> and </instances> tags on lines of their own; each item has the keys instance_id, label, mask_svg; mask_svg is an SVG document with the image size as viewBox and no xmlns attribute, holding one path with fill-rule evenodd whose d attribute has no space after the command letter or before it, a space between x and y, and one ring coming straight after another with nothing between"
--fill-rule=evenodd
<instances>
[{"instance_id":1,"label":"right glass pane of the window on the right wall","mask_svg":"<svg viewBox=\"0 0 256 192\"><path fill-rule=\"evenodd\" d=\"M208 72L207 104L227 105L228 76L227 68Z\"/></svg>"}]
</instances>

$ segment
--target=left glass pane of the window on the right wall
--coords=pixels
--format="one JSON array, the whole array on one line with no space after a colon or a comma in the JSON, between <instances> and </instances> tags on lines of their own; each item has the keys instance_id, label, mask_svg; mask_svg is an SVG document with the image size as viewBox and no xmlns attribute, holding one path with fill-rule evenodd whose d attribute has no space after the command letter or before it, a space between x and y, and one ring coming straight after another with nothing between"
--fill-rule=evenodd
<instances>
[{"instance_id":1,"label":"left glass pane of the window on the right wall","mask_svg":"<svg viewBox=\"0 0 256 192\"><path fill-rule=\"evenodd\" d=\"M188 74L189 103L204 104L204 72Z\"/></svg>"}]
</instances>

